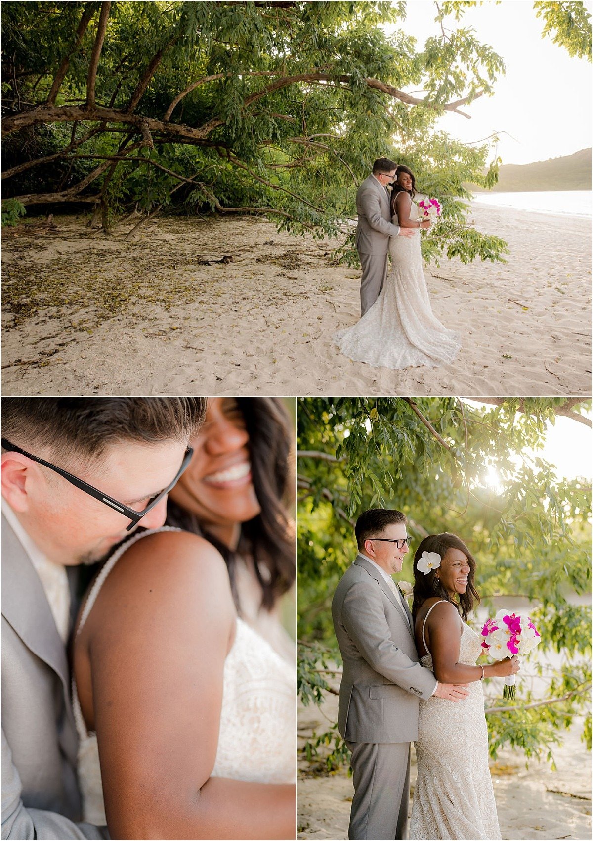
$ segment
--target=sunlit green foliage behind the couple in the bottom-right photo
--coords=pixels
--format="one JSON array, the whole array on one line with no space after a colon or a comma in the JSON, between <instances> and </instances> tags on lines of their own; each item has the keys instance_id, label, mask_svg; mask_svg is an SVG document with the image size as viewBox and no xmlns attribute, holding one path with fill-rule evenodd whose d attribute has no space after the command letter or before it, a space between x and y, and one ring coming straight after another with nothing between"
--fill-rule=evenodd
<instances>
[{"instance_id":1,"label":"sunlit green foliage behind the couple in the bottom-right photo","mask_svg":"<svg viewBox=\"0 0 593 841\"><path fill-rule=\"evenodd\" d=\"M356 516L375 506L397 508L407 514L412 547L443 531L469 543L488 615L511 598L528 600L543 637L541 655L523 669L535 676L534 688L522 676L516 706L491 703L491 753L510 744L527 758L553 762L552 748L575 714L585 713L590 745L590 484L559 478L538 450L558 416L590 426L582 415L590 400L489 402L299 399L300 692L317 703L337 688L330 605L356 552ZM487 481L491 469L499 487ZM403 580L412 580L412 557ZM328 762L342 755L338 743Z\"/></svg>"}]
</instances>

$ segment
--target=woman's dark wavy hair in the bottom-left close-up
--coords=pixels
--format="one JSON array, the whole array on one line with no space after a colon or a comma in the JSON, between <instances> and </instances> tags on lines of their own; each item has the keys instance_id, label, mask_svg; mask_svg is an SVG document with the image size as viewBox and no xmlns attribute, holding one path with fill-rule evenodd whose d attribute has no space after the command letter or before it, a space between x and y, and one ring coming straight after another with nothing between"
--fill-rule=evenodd
<instances>
[{"instance_id":1,"label":"woman's dark wavy hair in the bottom-left close-up","mask_svg":"<svg viewBox=\"0 0 593 841\"><path fill-rule=\"evenodd\" d=\"M286 497L293 492L291 450L293 424L278 397L239 397L237 405L249 432L249 455L260 514L241 523L239 544L229 549L204 529L195 514L169 498L167 525L205 537L218 549L228 567L234 602L240 611L235 565L241 556L253 558L262 590L261 606L270 610L296 577L294 524L286 513Z\"/></svg>"}]
</instances>

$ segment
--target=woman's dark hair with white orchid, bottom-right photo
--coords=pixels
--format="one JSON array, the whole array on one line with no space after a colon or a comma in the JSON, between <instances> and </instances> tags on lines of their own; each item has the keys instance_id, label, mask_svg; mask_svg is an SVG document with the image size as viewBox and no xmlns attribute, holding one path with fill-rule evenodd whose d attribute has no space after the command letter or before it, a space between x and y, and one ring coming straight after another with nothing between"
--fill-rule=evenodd
<instances>
[{"instance_id":1,"label":"woman's dark hair with white orchid, bottom-right photo","mask_svg":"<svg viewBox=\"0 0 593 841\"><path fill-rule=\"evenodd\" d=\"M470 564L470 574L467 578L467 589L464 593L459 595L459 604L451 599L449 593L444 589L443 584L439 581L438 575L435 573L434 569L431 569L426 575L417 569L418 561L422 558L422 552L436 552L442 559L449 549L459 549L460 552L464 553L465 557L468 559L468 563ZM416 553L414 554L414 603L412 605L412 616L414 616L414 619L416 618L417 612L419 611L423 601L437 595L439 599L450 601L451 604L455 605L461 613L463 620L467 621L470 612L474 608L474 604L476 606L480 604L480 595L475 589L474 579L475 558L472 553L470 553L468 547L465 546L461 538L454 534L449 534L449 532L443 532L443 534L429 534L428 537L425 537L420 542L420 546L417 547Z\"/></svg>"}]
</instances>

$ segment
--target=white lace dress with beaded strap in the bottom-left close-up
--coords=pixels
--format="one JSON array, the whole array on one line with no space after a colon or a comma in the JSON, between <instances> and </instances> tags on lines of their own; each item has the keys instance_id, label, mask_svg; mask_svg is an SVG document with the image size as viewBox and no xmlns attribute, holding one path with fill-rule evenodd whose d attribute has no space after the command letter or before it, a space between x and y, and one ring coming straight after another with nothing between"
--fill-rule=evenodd
<instances>
[{"instance_id":1,"label":"white lace dress with beaded strap in the bottom-left close-up","mask_svg":"<svg viewBox=\"0 0 593 841\"><path fill-rule=\"evenodd\" d=\"M98 574L82 611L77 634L87 621L102 584L129 546L163 526L134 535L113 553ZM97 736L87 732L72 678L72 703L79 737L78 779L84 820L104 826ZM296 780L296 664L290 665L246 622L237 620L233 646L223 669L223 706L211 776L260 783Z\"/></svg>"}]
</instances>

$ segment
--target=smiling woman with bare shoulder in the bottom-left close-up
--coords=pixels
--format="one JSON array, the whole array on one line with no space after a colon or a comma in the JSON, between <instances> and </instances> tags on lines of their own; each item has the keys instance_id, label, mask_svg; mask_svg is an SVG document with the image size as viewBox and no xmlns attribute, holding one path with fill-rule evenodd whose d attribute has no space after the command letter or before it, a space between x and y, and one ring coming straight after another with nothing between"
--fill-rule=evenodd
<instances>
[{"instance_id":1,"label":"smiling woman with bare shoulder in the bottom-left close-up","mask_svg":"<svg viewBox=\"0 0 593 841\"><path fill-rule=\"evenodd\" d=\"M109 558L81 611L73 669L81 791L85 819L107 820L112 838L295 837L295 666L271 621L294 574L280 533L289 526L280 516L287 433L281 406L256 407L266 455L244 414L254 410L210 401L176 494L177 517L185 510L210 539L171 526L139 532ZM261 518L276 524L265 540ZM249 606L255 591L239 558L229 579L213 545L214 535L221 549L234 546L245 519L245 562L249 547L277 550L277 563L266 551L255 576L265 621Z\"/></svg>"}]
</instances>

